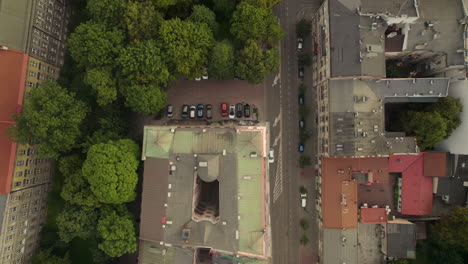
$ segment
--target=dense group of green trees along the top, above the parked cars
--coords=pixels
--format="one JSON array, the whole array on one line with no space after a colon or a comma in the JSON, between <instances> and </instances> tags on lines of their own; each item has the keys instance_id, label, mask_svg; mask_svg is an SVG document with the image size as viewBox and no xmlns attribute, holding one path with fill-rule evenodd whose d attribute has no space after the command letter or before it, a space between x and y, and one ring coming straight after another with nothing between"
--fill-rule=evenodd
<instances>
[{"instance_id":1,"label":"dense group of green trees along the top, above the parked cars","mask_svg":"<svg viewBox=\"0 0 468 264\"><path fill-rule=\"evenodd\" d=\"M171 8L187 2L88 1L91 19L71 34L68 49L99 105L121 96L133 111L154 114L165 104L164 90L180 77L208 71L214 79L238 76L260 83L278 68L284 33L268 8L276 1L236 6L218 0L213 5L218 16L204 5L174 16ZM226 19L227 26L218 22Z\"/></svg>"}]
</instances>

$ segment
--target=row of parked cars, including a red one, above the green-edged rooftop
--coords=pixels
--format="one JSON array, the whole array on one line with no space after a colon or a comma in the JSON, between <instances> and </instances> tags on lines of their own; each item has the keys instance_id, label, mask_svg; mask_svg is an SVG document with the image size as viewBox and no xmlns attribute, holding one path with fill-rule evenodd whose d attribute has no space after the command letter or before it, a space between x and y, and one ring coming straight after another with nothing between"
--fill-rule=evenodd
<instances>
[{"instance_id":1,"label":"row of parked cars, including a red one, above the green-edged rooftop","mask_svg":"<svg viewBox=\"0 0 468 264\"><path fill-rule=\"evenodd\" d=\"M220 106L221 117L234 118L249 118L250 117L250 105L238 103L237 105L231 104L228 106L227 103L222 103ZM167 117L171 118L174 116L174 106L168 105L166 109ZM211 104L198 104L198 105L186 105L182 106L182 118L213 118L213 106Z\"/></svg>"}]
</instances>

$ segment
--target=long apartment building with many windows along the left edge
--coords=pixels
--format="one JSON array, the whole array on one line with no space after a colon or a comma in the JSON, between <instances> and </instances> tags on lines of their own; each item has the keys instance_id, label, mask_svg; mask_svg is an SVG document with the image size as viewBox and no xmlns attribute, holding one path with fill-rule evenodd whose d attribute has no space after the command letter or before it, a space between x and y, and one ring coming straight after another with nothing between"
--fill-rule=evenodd
<instances>
[{"instance_id":1,"label":"long apartment building with many windows along the left edge","mask_svg":"<svg viewBox=\"0 0 468 264\"><path fill-rule=\"evenodd\" d=\"M58 78L69 16L66 0L0 1L0 263L30 263L39 247L53 161L6 131L31 89Z\"/></svg>"}]
</instances>

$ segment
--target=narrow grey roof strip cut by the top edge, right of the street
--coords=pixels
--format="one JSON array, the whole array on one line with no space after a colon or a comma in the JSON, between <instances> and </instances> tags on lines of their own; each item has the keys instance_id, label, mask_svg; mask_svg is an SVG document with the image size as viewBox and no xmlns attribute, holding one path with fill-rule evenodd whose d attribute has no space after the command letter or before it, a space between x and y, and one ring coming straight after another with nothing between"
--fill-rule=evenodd
<instances>
[{"instance_id":1,"label":"narrow grey roof strip cut by the top edge, right of the street","mask_svg":"<svg viewBox=\"0 0 468 264\"><path fill-rule=\"evenodd\" d=\"M417 16L414 0L360 0L361 12L367 14L386 14L388 16Z\"/></svg>"}]
</instances>

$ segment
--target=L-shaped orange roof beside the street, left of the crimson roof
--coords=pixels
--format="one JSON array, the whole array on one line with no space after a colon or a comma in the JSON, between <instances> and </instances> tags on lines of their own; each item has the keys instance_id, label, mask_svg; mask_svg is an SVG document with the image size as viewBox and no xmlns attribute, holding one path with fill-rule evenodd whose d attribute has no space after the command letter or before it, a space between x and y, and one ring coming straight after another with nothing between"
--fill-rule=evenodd
<instances>
[{"instance_id":1,"label":"L-shaped orange roof beside the street, left of the crimson roof","mask_svg":"<svg viewBox=\"0 0 468 264\"><path fill-rule=\"evenodd\" d=\"M357 227L357 186L353 172L388 178L387 158L323 158L322 215L324 228Z\"/></svg>"}]
</instances>

